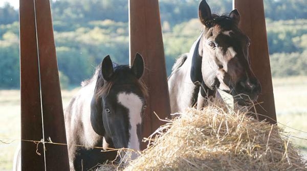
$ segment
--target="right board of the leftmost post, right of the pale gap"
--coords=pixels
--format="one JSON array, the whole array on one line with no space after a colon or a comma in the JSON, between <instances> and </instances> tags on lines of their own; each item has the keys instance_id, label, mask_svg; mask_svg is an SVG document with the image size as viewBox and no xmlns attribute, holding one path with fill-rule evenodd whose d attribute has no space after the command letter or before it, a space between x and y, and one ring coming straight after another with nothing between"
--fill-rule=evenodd
<instances>
[{"instance_id":1,"label":"right board of the leftmost post, right of the pale gap","mask_svg":"<svg viewBox=\"0 0 307 171\"><path fill-rule=\"evenodd\" d=\"M45 141L67 143L49 0L35 0ZM69 170L67 145L46 144L46 170Z\"/></svg>"}]
</instances>

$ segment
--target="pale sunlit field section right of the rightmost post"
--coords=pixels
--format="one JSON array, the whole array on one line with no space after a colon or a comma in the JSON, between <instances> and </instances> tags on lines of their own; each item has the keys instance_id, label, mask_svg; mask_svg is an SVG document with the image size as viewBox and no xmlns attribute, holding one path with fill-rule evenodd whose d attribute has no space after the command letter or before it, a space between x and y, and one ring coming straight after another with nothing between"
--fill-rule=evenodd
<instances>
[{"instance_id":1,"label":"pale sunlit field section right of the rightmost post","mask_svg":"<svg viewBox=\"0 0 307 171\"><path fill-rule=\"evenodd\" d=\"M307 77L273 79L277 121L307 158Z\"/></svg>"}]
</instances>

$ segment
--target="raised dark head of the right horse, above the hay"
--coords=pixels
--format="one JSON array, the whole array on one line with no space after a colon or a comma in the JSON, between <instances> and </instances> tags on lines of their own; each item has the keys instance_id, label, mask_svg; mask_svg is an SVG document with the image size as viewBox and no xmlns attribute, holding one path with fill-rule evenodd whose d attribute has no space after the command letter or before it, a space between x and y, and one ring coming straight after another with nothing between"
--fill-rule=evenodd
<instances>
[{"instance_id":1,"label":"raised dark head of the right horse, above the hay","mask_svg":"<svg viewBox=\"0 0 307 171\"><path fill-rule=\"evenodd\" d=\"M204 25L199 42L204 83L211 89L217 86L231 93L240 105L256 101L261 86L250 66L250 39L238 28L238 11L223 16L211 14L209 5L203 0L199 17Z\"/></svg>"}]
</instances>

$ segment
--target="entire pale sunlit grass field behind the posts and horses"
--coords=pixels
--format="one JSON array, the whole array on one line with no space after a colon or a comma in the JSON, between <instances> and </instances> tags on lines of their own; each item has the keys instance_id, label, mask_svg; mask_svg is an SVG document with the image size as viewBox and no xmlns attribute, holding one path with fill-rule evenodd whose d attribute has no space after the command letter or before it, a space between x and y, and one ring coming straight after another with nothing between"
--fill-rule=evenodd
<instances>
[{"instance_id":1,"label":"entire pale sunlit grass field behind the posts and horses","mask_svg":"<svg viewBox=\"0 0 307 171\"><path fill-rule=\"evenodd\" d=\"M273 79L275 106L279 126L292 137L305 158L307 156L307 77L292 77ZM62 91L63 106L66 106L70 98L76 93ZM13 156L20 139L20 91L0 90L0 170L12 170ZM286 126L283 126L286 125ZM297 131L292 128L295 128ZM9 139L15 140L9 140Z\"/></svg>"}]
</instances>

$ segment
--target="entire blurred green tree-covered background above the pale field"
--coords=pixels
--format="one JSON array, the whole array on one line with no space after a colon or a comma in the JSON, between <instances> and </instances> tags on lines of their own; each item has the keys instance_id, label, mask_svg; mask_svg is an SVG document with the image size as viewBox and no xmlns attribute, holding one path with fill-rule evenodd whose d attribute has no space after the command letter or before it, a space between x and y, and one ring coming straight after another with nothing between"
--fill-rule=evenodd
<instances>
[{"instance_id":1,"label":"entire blurred green tree-covered background above the pale field","mask_svg":"<svg viewBox=\"0 0 307 171\"><path fill-rule=\"evenodd\" d=\"M128 63L128 1L52 1L61 83L80 84L110 55ZM231 0L208 0L212 12L231 11ZM188 52L200 33L199 1L161 0L160 11L168 74L174 60ZM307 74L307 11L304 1L265 1L267 32L274 77ZM289 12L290 11L290 12ZM290 15L291 14L291 15ZM295 15L293 15L295 14ZM0 8L0 88L19 87L18 11Z\"/></svg>"}]
</instances>

